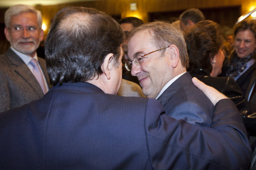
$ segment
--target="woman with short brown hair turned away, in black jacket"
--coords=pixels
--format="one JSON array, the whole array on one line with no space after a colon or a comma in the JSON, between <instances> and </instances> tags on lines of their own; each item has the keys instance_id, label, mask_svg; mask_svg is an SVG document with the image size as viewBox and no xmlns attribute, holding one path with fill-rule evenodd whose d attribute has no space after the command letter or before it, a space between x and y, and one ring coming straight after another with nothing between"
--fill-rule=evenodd
<instances>
[{"instance_id":1,"label":"woman with short brown hair turned away, in black jacket","mask_svg":"<svg viewBox=\"0 0 256 170\"><path fill-rule=\"evenodd\" d=\"M221 50L223 38L220 25L204 20L189 27L186 32L189 68L192 77L216 88L233 100L243 117L248 131L256 130L256 119L251 116L256 106L248 102L236 81L230 77L217 77L221 73L224 54Z\"/></svg>"}]
</instances>

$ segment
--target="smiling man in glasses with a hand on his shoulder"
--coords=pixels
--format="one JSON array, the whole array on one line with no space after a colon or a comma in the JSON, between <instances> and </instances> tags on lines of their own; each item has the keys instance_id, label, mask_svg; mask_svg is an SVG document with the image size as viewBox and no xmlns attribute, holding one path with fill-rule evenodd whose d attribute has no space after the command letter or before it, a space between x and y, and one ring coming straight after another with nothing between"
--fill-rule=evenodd
<instances>
[{"instance_id":1,"label":"smiling man in glasses with a hand on his shoulder","mask_svg":"<svg viewBox=\"0 0 256 170\"><path fill-rule=\"evenodd\" d=\"M125 63L140 81L147 98L157 99L166 114L177 120L210 127L214 106L191 82L183 33L163 21L143 24L127 34Z\"/></svg>"}]
</instances>

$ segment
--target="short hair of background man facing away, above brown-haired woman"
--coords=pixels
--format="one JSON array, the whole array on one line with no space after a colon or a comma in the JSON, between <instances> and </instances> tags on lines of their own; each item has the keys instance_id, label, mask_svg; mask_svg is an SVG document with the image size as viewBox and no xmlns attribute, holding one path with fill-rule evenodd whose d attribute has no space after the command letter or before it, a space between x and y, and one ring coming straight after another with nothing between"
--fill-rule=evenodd
<instances>
[{"instance_id":1,"label":"short hair of background man facing away, above brown-haired woman","mask_svg":"<svg viewBox=\"0 0 256 170\"><path fill-rule=\"evenodd\" d=\"M205 18L202 11L197 8L190 8L180 14L180 27L182 29L187 29L189 26L193 26L204 19Z\"/></svg>"}]
</instances>

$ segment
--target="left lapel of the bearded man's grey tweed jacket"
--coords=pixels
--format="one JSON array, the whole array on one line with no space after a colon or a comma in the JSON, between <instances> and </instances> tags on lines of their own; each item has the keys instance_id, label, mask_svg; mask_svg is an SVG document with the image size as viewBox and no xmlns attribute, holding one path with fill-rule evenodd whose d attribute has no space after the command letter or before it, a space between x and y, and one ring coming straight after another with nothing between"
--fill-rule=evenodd
<instances>
[{"instance_id":1,"label":"left lapel of the bearded man's grey tweed jacket","mask_svg":"<svg viewBox=\"0 0 256 170\"><path fill-rule=\"evenodd\" d=\"M43 90L23 60L16 53L14 53L11 48L7 50L6 56L8 56L11 61L12 70L22 77L28 83L28 85L34 89L38 96L43 96Z\"/></svg>"}]
</instances>

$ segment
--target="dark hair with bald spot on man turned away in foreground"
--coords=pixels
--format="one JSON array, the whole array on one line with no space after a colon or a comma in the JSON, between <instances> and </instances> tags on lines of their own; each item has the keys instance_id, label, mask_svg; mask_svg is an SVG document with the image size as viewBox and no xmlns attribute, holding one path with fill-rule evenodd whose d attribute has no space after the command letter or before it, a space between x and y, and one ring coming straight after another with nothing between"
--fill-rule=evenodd
<instances>
[{"instance_id":1,"label":"dark hair with bald spot on man turned away in foreground","mask_svg":"<svg viewBox=\"0 0 256 170\"><path fill-rule=\"evenodd\" d=\"M119 64L124 41L120 25L93 8L66 7L53 18L45 41L45 61L50 83L82 82L102 74L106 55Z\"/></svg>"}]
</instances>

